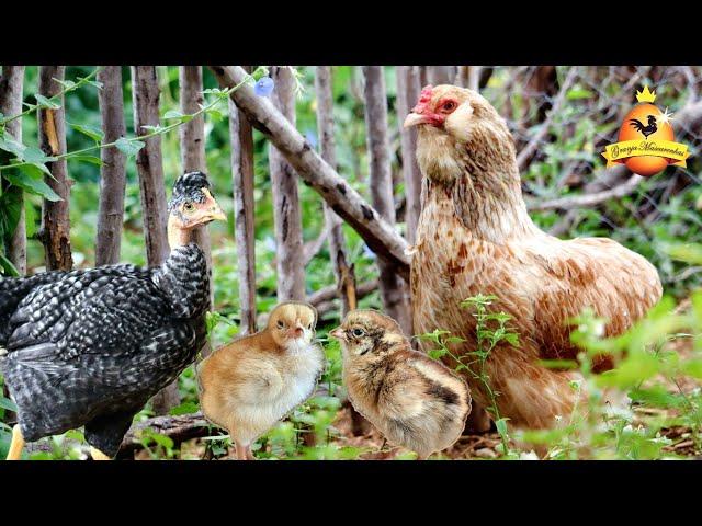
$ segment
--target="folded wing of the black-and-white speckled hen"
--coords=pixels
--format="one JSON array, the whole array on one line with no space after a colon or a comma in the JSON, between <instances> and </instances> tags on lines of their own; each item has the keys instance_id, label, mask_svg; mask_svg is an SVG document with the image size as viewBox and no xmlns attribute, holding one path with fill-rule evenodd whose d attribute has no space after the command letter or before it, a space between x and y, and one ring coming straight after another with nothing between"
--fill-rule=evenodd
<instances>
[{"instance_id":1,"label":"folded wing of the black-and-white speckled hen","mask_svg":"<svg viewBox=\"0 0 702 526\"><path fill-rule=\"evenodd\" d=\"M194 324L169 316L150 272L94 268L30 294L11 318L2 364L15 398L46 391L87 403L91 390L97 400L126 397L180 373Z\"/></svg>"}]
</instances>

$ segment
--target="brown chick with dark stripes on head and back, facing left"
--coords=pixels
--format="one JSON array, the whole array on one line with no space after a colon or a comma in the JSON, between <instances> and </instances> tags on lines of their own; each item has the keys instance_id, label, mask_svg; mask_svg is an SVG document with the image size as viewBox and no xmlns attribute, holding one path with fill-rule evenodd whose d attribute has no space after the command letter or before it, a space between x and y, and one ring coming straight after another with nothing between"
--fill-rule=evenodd
<instances>
[{"instance_id":1,"label":"brown chick with dark stripes on head and back, facing left","mask_svg":"<svg viewBox=\"0 0 702 526\"><path fill-rule=\"evenodd\" d=\"M414 351L395 320L352 310L329 335L341 341L351 403L389 442L426 459L458 439L471 412L468 386Z\"/></svg>"}]
</instances>

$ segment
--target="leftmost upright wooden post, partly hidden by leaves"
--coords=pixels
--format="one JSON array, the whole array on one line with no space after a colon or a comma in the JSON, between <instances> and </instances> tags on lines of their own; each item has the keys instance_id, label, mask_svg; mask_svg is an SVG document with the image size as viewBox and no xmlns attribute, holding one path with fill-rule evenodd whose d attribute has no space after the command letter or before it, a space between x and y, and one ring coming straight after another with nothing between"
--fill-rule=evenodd
<instances>
[{"instance_id":1,"label":"leftmost upright wooden post, partly hidden by leaves","mask_svg":"<svg viewBox=\"0 0 702 526\"><path fill-rule=\"evenodd\" d=\"M22 87L24 81L24 66L2 66L0 76L0 113L5 117L22 113ZM5 132L22 142L22 118L5 124ZM14 201L20 206L20 219L14 232L7 238L7 255L20 275L26 274L26 225L24 222L24 196L22 188L2 182L2 192L14 192Z\"/></svg>"}]
</instances>

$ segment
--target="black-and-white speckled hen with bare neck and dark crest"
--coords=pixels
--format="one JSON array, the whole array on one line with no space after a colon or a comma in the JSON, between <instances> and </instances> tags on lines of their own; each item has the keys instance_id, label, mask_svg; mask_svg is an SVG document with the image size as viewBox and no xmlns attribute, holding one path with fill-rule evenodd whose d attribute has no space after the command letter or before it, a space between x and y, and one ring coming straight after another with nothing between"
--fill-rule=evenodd
<instances>
[{"instance_id":1,"label":"black-and-white speckled hen with bare neck and dark crest","mask_svg":"<svg viewBox=\"0 0 702 526\"><path fill-rule=\"evenodd\" d=\"M191 242L226 216L201 172L169 203L160 267L111 265L0 281L0 368L18 404L8 459L24 441L84 426L93 458L114 457L134 415L205 343L210 275Z\"/></svg>"}]
</instances>

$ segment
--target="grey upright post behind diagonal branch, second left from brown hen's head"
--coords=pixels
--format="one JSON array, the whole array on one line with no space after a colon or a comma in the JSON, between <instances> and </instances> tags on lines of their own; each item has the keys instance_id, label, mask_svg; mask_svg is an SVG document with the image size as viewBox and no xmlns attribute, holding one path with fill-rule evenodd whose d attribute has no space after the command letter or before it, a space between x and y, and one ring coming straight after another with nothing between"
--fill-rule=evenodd
<instances>
[{"instance_id":1,"label":"grey upright post behind diagonal branch, second left from brown hen's head","mask_svg":"<svg viewBox=\"0 0 702 526\"><path fill-rule=\"evenodd\" d=\"M395 224L393 173L387 138L387 105L382 66L364 66L365 128L370 156L371 197L378 215L389 225ZM378 260L381 296L388 316L394 318L406 334L412 334L408 287L395 266Z\"/></svg>"}]
</instances>

